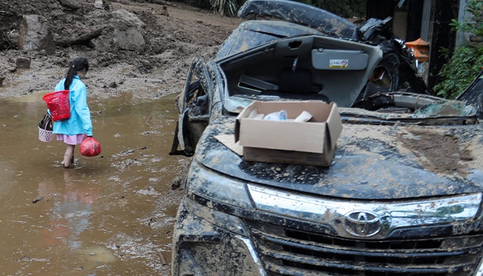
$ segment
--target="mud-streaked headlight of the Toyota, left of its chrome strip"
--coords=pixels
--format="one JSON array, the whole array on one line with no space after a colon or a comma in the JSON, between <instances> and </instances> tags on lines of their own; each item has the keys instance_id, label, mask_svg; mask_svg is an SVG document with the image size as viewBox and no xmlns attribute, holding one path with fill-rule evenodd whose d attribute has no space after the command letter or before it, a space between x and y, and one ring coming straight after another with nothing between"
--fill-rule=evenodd
<instances>
[{"instance_id":1,"label":"mud-streaked headlight of the Toyota, left of its chrome strip","mask_svg":"<svg viewBox=\"0 0 483 276\"><path fill-rule=\"evenodd\" d=\"M193 161L188 172L186 189L188 195L195 194L221 204L253 209L245 182L208 170L196 161Z\"/></svg>"}]
</instances>

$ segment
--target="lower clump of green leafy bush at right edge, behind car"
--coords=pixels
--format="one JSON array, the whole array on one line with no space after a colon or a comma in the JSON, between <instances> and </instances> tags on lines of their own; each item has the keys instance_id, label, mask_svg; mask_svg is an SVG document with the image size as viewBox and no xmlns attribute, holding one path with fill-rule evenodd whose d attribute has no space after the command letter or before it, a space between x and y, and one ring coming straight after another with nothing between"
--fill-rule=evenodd
<instances>
[{"instance_id":1,"label":"lower clump of green leafy bush at right edge, behind car","mask_svg":"<svg viewBox=\"0 0 483 276\"><path fill-rule=\"evenodd\" d=\"M433 90L437 91L437 95L455 99L475 79L482 65L483 47L457 47L449 62L442 67L440 76L443 81L437 83Z\"/></svg>"}]
</instances>

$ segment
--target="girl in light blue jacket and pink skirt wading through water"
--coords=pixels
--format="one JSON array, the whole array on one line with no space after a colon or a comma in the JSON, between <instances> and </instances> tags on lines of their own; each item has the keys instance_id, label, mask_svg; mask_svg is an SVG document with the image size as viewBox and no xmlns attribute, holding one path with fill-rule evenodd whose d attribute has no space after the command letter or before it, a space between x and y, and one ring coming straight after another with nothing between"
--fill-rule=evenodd
<instances>
[{"instance_id":1,"label":"girl in light blue jacket and pink skirt wading through water","mask_svg":"<svg viewBox=\"0 0 483 276\"><path fill-rule=\"evenodd\" d=\"M78 57L72 61L66 77L55 86L55 91L70 90L70 118L65 121L56 121L52 131L56 134L57 141L67 144L66 154L63 155L64 168L69 168L74 163L75 146L81 144L84 135L92 136L87 88L81 81L86 77L88 70L87 59Z\"/></svg>"}]
</instances>

